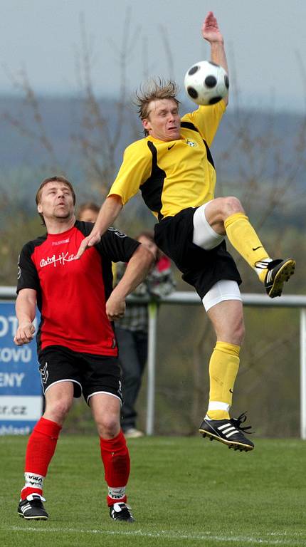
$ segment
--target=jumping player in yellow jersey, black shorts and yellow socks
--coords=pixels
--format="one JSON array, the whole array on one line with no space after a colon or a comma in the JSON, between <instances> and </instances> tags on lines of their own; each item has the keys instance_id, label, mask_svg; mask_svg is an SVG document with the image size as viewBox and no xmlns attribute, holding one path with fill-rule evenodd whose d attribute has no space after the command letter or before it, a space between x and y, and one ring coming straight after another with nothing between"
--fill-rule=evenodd
<instances>
[{"instance_id":1,"label":"jumping player in yellow jersey, black shorts and yellow socks","mask_svg":"<svg viewBox=\"0 0 306 547\"><path fill-rule=\"evenodd\" d=\"M202 36L211 45L211 61L228 71L223 36L211 11ZM153 80L139 90L139 117L146 136L125 150L120 171L78 256L100 241L123 205L140 190L159 221L154 229L157 246L196 288L216 332L209 363L209 407L199 430L204 437L248 451L254 446L244 435L248 428L241 427L246 416L234 419L228 413L244 326L241 277L226 251L225 237L258 273L271 298L282 293L295 261L270 259L236 197L214 199L216 172L209 146L227 99L180 118L176 94L171 80Z\"/></svg>"}]
</instances>

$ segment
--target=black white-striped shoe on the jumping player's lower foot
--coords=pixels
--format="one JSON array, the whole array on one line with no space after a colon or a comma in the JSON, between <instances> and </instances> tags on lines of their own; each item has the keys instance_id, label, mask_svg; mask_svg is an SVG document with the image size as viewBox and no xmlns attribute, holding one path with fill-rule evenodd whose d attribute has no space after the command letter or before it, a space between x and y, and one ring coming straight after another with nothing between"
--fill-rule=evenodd
<instances>
[{"instance_id":1,"label":"black white-striped shoe on the jumping player's lower foot","mask_svg":"<svg viewBox=\"0 0 306 547\"><path fill-rule=\"evenodd\" d=\"M199 427L199 432L203 437L209 437L211 441L216 439L216 441L227 444L228 448L248 452L253 450L254 444L243 434L251 427L250 425L241 427L241 424L245 421L245 413L238 416L238 418L229 418L228 420L209 420L206 416Z\"/></svg>"}]
</instances>

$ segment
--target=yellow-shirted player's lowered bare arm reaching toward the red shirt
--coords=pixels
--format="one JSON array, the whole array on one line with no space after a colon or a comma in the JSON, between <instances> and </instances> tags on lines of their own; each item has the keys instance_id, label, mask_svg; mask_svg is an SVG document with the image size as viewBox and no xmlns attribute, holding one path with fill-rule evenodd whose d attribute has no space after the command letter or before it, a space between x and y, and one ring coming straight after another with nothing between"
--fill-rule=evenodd
<instances>
[{"instance_id":1,"label":"yellow-shirted player's lowered bare arm reaching toward the red shirt","mask_svg":"<svg viewBox=\"0 0 306 547\"><path fill-rule=\"evenodd\" d=\"M122 201L120 196L113 194L105 199L105 202L102 204L100 212L97 215L97 220L95 221L95 226L93 226L91 234L85 237L80 244L78 254L75 256L76 259L79 259L80 256L83 255L85 249L93 247L100 242L101 236L105 233L107 228L112 225L115 219L117 219L121 209Z\"/></svg>"}]
</instances>

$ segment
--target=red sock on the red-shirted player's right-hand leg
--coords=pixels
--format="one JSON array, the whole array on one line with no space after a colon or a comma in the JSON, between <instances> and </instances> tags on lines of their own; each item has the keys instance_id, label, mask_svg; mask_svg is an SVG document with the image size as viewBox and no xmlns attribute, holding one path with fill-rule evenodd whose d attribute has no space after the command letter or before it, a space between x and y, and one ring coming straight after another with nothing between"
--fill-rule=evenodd
<instances>
[{"instance_id":1,"label":"red sock on the red-shirted player's right-hand leg","mask_svg":"<svg viewBox=\"0 0 306 547\"><path fill-rule=\"evenodd\" d=\"M122 431L115 439L100 437L100 448L107 486L125 488L130 476L130 454ZM112 505L116 501L127 501L127 496L120 499L107 496L107 505Z\"/></svg>"}]
</instances>

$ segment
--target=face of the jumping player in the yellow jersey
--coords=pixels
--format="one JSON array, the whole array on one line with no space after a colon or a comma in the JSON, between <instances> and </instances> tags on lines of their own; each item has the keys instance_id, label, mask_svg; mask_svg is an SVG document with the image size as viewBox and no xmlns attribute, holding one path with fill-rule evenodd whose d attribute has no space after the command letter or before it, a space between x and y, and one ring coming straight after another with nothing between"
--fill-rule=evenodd
<instances>
[{"instance_id":1,"label":"face of the jumping player in the yellow jersey","mask_svg":"<svg viewBox=\"0 0 306 547\"><path fill-rule=\"evenodd\" d=\"M148 117L142 120L144 129L155 139L177 140L181 138L179 107L173 99L152 100Z\"/></svg>"}]
</instances>

